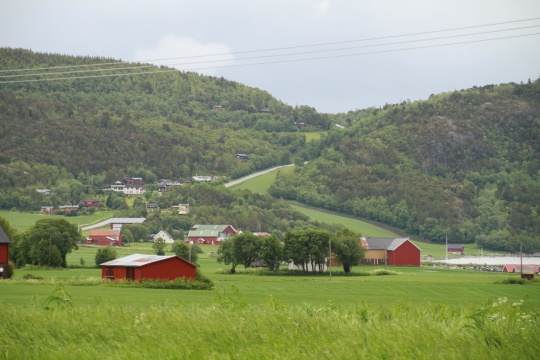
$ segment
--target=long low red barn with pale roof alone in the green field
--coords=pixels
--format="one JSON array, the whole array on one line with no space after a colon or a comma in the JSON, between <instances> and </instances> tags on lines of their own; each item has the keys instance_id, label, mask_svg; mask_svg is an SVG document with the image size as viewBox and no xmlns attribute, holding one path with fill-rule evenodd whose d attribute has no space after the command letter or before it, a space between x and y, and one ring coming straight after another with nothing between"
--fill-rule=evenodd
<instances>
[{"instance_id":1,"label":"long low red barn with pale roof alone in the green field","mask_svg":"<svg viewBox=\"0 0 540 360\"><path fill-rule=\"evenodd\" d=\"M176 255L133 254L100 265L101 277L111 280L173 280L180 277L195 279L197 270L197 265Z\"/></svg>"}]
</instances>

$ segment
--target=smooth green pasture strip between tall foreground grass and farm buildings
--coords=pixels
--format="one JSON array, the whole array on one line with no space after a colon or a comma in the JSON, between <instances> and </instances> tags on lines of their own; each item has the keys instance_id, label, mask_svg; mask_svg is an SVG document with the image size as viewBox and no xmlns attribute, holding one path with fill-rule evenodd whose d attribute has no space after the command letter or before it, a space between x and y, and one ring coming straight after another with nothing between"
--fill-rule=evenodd
<instances>
[{"instance_id":1,"label":"smooth green pasture strip between tall foreground grass and farm buildings","mask_svg":"<svg viewBox=\"0 0 540 360\"><path fill-rule=\"evenodd\" d=\"M237 268L238 273L231 275L230 268L218 264L210 255L216 246L201 245L204 253L200 254L200 271L214 281L217 291L237 289L249 304L262 304L270 297L287 305L309 303L324 305L329 302L340 304L356 304L359 301L367 304L395 304L399 302L437 303L461 306L464 303L480 304L498 297L508 297L512 301L526 299L540 306L538 286L516 286L498 284L507 279L509 274L477 272L455 269L439 269L431 267L388 267L397 275L373 276L374 270L382 267L356 266L352 276L345 276L340 267L333 267L333 276L329 273L302 274L284 276L268 274L266 270ZM0 303L21 303L18 291L28 294L35 289L36 294L48 296L57 283L66 282L74 294L74 302L90 304L96 297L102 300L117 301L115 294L121 299L132 298L131 302L150 305L160 296L131 296L128 294L152 294L154 290L129 288L104 288L100 286L71 286L70 281L86 278L100 278L101 269L95 267L94 257L97 246L81 246L79 250L68 254L68 266L79 266L80 258L85 266L68 269L47 269L27 266L17 269L13 281L2 282L0 292L10 288L8 296L2 296ZM170 245L167 248L170 254ZM151 254L150 243L134 243L130 247L117 249L118 256L134 253ZM22 281L26 274L39 276L48 281ZM513 275L518 276L518 275ZM159 290L158 294L166 294L163 301L182 300L184 303L210 305L215 294L212 291L173 291ZM35 295L36 295L35 294ZM24 297L24 296L23 296ZM28 298L32 302L33 298ZM23 302L24 303L24 302Z\"/></svg>"}]
</instances>

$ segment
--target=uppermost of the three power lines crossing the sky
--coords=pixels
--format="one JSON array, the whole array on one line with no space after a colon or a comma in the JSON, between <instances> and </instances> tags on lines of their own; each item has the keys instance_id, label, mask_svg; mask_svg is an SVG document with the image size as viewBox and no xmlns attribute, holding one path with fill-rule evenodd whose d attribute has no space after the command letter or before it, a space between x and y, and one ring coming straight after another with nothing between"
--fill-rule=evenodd
<instances>
[{"instance_id":1,"label":"uppermost of the three power lines crossing the sky","mask_svg":"<svg viewBox=\"0 0 540 360\"><path fill-rule=\"evenodd\" d=\"M435 34L435 33L442 33L442 32L450 32L450 31L459 31L459 30L467 30L467 29L489 27L489 26L514 24L514 23L528 22L528 21L535 21L535 20L540 20L540 18L520 19L520 20L504 21L504 22L498 22L498 23L472 25L472 26L464 26L464 27L458 27L458 28L449 28L449 29L442 29L442 30L432 30L432 31L417 32L417 33L407 33L407 34L380 36L380 37L364 38L364 39L357 39L357 40L336 41L336 42L309 44L309 45L296 45L296 46L290 46L290 47L269 48L269 49L259 49L259 50L246 50L246 51L239 51L239 52L232 52L232 53L219 53L219 54L194 55L194 56L185 56L185 57L176 57L176 58L141 60L141 61L138 61L138 63L141 63L141 62L170 61L170 60L179 60L179 59L193 59L193 58L214 57L214 56L224 56L224 55L239 55L239 54L281 51L281 50L291 50L291 49L302 49L302 48L309 48L309 47L329 46L329 45L338 45L338 44L346 44L346 43L354 43L354 42L365 42L365 41L375 41L375 40L384 40L384 39L391 39L391 38L407 37L407 36ZM504 31L504 30L500 30L500 31ZM0 73L3 73L3 72L17 72L17 71L33 71L33 70L66 69L66 68L91 67L91 66L108 66L108 65L119 65L119 64L124 64L124 63L126 63L126 62L115 61L115 62L109 62L109 63L93 63L93 64L83 64L83 65L63 65L63 66L53 66L53 67L46 67L46 68L8 69L8 70L0 70Z\"/></svg>"}]
</instances>

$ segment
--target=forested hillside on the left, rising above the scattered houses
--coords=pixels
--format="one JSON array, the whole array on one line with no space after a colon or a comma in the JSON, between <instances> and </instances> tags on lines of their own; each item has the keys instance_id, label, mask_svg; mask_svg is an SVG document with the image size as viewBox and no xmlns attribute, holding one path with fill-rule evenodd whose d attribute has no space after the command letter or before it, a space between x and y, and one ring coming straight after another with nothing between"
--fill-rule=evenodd
<instances>
[{"instance_id":1,"label":"forested hillside on the left, rising above the scattered houses","mask_svg":"<svg viewBox=\"0 0 540 360\"><path fill-rule=\"evenodd\" d=\"M6 165L47 164L75 175L136 167L159 178L238 177L290 163L305 142L295 121L330 125L312 108L293 108L223 78L20 49L0 49L0 59L0 163ZM150 74L126 75L136 71ZM29 75L38 72L48 75ZM118 76L91 77L111 74ZM91 78L5 83L70 76Z\"/></svg>"}]
</instances>

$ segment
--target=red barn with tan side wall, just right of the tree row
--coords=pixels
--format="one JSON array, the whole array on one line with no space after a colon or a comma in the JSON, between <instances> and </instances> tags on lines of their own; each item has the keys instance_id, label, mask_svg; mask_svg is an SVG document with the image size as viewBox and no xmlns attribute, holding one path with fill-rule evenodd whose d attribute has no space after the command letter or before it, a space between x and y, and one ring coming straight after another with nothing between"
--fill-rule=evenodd
<instances>
[{"instance_id":1,"label":"red barn with tan side wall, just right of the tree row","mask_svg":"<svg viewBox=\"0 0 540 360\"><path fill-rule=\"evenodd\" d=\"M420 249L409 238L362 238L364 264L420 266Z\"/></svg>"}]
</instances>

